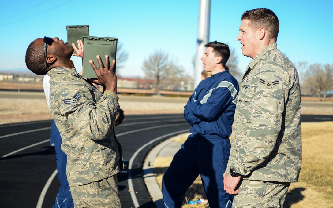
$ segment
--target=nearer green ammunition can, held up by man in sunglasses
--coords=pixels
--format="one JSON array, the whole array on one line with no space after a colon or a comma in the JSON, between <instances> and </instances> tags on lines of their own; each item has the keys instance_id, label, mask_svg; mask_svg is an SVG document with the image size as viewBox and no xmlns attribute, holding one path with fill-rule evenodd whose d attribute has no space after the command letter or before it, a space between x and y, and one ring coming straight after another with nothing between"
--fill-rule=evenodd
<instances>
[{"instance_id":1,"label":"nearer green ammunition can, held up by man in sunglasses","mask_svg":"<svg viewBox=\"0 0 333 208\"><path fill-rule=\"evenodd\" d=\"M84 36L83 40L84 52L82 77L97 78L97 75L94 69L91 67L89 60L93 60L97 68L100 69L96 55L101 56L104 66L105 55L108 55L111 64L112 60L116 60L118 38ZM116 65L113 68L113 71L116 73Z\"/></svg>"}]
</instances>

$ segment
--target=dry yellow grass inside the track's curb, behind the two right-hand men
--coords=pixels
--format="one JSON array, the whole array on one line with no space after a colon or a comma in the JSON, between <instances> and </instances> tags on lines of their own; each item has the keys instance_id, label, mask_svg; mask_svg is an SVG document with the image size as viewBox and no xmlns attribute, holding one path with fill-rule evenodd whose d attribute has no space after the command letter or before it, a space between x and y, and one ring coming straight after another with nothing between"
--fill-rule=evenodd
<instances>
[{"instance_id":1,"label":"dry yellow grass inside the track's curb, behind the two right-hand men","mask_svg":"<svg viewBox=\"0 0 333 208\"><path fill-rule=\"evenodd\" d=\"M316 208L333 207L333 122L316 122L302 124L302 169L299 182L292 183L286 196L284 207ZM187 136L177 138L184 142ZM154 161L156 179L159 185L162 176L171 163L172 157L158 157ZM155 169L154 169L155 171ZM187 200L197 200L204 194L198 177L185 194ZM204 196L204 195L203 195ZM182 208L190 208L186 202ZM195 205L195 207L204 207Z\"/></svg>"}]
</instances>

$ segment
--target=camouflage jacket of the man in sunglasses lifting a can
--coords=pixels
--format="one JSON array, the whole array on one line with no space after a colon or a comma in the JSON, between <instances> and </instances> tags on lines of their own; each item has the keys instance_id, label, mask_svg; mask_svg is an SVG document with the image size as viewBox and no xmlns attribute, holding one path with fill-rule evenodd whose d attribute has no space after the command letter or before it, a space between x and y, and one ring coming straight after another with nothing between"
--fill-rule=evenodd
<instances>
[{"instance_id":1,"label":"camouflage jacket of the man in sunglasses lifting a can","mask_svg":"<svg viewBox=\"0 0 333 208\"><path fill-rule=\"evenodd\" d=\"M50 108L68 156L70 186L88 184L118 173L120 153L113 131L118 95L104 95L75 69L56 67L50 78Z\"/></svg>"}]
</instances>

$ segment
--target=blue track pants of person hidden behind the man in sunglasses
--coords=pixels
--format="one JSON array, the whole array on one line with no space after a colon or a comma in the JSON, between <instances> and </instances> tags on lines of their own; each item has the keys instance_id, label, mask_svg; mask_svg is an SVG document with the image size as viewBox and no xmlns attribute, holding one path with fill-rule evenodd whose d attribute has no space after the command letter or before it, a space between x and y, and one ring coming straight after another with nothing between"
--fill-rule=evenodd
<instances>
[{"instance_id":1,"label":"blue track pants of person hidden behind the man in sunglasses","mask_svg":"<svg viewBox=\"0 0 333 208\"><path fill-rule=\"evenodd\" d=\"M74 208L73 198L66 175L67 155L60 149L62 143L61 136L56 124L52 120L50 144L52 145L53 143L56 150L58 178L61 184L53 208Z\"/></svg>"}]
</instances>

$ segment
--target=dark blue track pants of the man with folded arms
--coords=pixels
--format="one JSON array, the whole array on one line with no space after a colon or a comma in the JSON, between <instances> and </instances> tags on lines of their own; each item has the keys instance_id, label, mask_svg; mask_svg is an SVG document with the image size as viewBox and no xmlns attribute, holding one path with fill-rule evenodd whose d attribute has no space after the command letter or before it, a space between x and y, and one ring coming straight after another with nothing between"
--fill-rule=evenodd
<instances>
[{"instance_id":1,"label":"dark blue track pants of the man with folded arms","mask_svg":"<svg viewBox=\"0 0 333 208\"><path fill-rule=\"evenodd\" d=\"M180 208L188 187L200 174L211 208L229 208L233 195L223 189L223 173L230 154L230 141L221 137L189 135L175 154L162 180L166 208Z\"/></svg>"}]
</instances>

